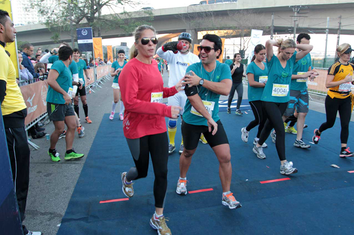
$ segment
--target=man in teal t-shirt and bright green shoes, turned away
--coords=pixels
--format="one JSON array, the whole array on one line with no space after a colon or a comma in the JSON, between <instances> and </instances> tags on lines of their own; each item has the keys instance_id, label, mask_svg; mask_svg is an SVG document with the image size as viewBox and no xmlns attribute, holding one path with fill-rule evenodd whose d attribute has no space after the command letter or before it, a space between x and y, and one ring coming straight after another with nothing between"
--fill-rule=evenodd
<instances>
[{"instance_id":1,"label":"man in teal t-shirt and bright green shoes, turned away","mask_svg":"<svg viewBox=\"0 0 354 235\"><path fill-rule=\"evenodd\" d=\"M48 154L52 161L60 161L59 153L55 147L59 136L66 131L66 153L65 160L82 158L83 154L74 152L72 144L76 129L75 112L71 105L72 98L72 75L69 65L72 64L73 51L71 47L62 46L59 49L59 61L56 61L48 75L47 112L49 119L53 121L55 130L51 135L51 146Z\"/></svg>"}]
</instances>

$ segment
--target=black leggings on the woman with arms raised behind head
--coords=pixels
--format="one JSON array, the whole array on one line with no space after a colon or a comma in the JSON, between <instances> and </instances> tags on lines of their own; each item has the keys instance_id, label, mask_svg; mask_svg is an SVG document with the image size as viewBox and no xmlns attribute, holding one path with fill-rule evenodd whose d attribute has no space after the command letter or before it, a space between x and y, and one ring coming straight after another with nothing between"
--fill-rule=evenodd
<instances>
[{"instance_id":1,"label":"black leggings on the woman with arms raised behind head","mask_svg":"<svg viewBox=\"0 0 354 235\"><path fill-rule=\"evenodd\" d=\"M262 101L262 107L264 111L263 118L267 118L264 128L260 133L258 144L262 145L265 140L271 134L272 129L274 128L277 139L275 141L275 146L277 148L278 156L281 161L286 160L285 157L285 129L283 124L283 114L288 107L288 102L286 103L274 103Z\"/></svg>"}]
</instances>

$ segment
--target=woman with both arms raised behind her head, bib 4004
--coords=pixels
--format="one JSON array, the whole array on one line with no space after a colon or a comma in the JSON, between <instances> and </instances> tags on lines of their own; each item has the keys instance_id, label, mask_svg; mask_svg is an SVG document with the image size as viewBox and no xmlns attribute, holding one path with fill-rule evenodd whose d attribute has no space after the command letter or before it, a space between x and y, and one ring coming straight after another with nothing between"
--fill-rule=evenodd
<instances>
[{"instance_id":1,"label":"woman with both arms raised behind her head, bib 4004","mask_svg":"<svg viewBox=\"0 0 354 235\"><path fill-rule=\"evenodd\" d=\"M274 55L273 46L279 47L277 55ZM295 48L299 48L301 51L296 52ZM272 140L276 143L281 163L281 174L293 174L297 172L297 169L292 166L292 162L288 162L285 157L285 129L282 116L290 100L289 88L295 62L308 54L312 48L312 45L296 44L292 39L268 40L265 43L268 81L264 86L261 101L264 115L268 120L265 122L258 143L253 148L253 152L256 153L258 158L265 158L262 145L274 128L277 136L275 137L275 133L272 132Z\"/></svg>"}]
</instances>

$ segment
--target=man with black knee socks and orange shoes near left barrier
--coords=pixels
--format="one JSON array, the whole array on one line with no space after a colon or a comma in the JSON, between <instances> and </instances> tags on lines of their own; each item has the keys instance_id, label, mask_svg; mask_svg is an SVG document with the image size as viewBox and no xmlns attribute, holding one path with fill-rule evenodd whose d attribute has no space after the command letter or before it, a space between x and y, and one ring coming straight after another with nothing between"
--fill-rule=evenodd
<instances>
[{"instance_id":1,"label":"man with black knee socks and orange shoes near left barrier","mask_svg":"<svg viewBox=\"0 0 354 235\"><path fill-rule=\"evenodd\" d=\"M83 72L85 72L87 80L90 80L89 72L87 71L86 62L79 59L79 57L81 55L81 51L77 48L74 48L73 51L74 51L73 61L76 63L76 66L78 69L78 76L79 76L79 83L80 83L80 85L76 91L75 98L74 98L74 110L75 110L77 116L80 118L80 116L79 116L79 95L80 95L80 99L82 102L82 108L85 113L85 121L86 121L86 123L90 124L90 123L92 123L92 121L89 118L89 107L87 106L87 101L86 101L85 78L83 76ZM74 63L71 63L71 64L74 64Z\"/></svg>"}]
</instances>

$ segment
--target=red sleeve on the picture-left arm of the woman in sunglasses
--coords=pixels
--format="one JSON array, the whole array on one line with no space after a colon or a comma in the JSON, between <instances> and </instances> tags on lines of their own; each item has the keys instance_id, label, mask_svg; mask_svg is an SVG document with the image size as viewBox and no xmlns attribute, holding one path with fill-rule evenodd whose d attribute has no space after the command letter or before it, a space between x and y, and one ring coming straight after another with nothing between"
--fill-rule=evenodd
<instances>
[{"instance_id":1,"label":"red sleeve on the picture-left arm of the woman in sunglasses","mask_svg":"<svg viewBox=\"0 0 354 235\"><path fill-rule=\"evenodd\" d=\"M127 67L127 66L126 66ZM122 70L119 76L120 92L123 99L125 110L129 112L136 112L142 114L154 114L167 116L171 118L171 107L162 103L152 103L147 100L138 99L138 91L142 93L149 93L147 97L150 97L151 91L144 90L141 87L139 90L139 72L137 68L128 66ZM144 84L142 84L144 86ZM174 89L176 91L176 89ZM168 91L168 94L172 93Z\"/></svg>"}]
</instances>

